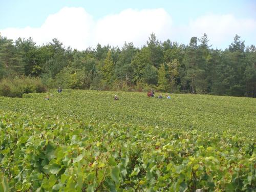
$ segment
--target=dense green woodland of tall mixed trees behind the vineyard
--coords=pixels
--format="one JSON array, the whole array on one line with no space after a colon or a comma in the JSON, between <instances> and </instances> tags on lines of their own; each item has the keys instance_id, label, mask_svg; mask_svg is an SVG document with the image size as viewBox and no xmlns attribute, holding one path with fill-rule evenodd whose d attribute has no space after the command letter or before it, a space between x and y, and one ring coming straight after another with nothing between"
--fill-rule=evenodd
<instances>
[{"instance_id":1,"label":"dense green woodland of tall mixed trees behind the vineyard","mask_svg":"<svg viewBox=\"0 0 256 192\"><path fill-rule=\"evenodd\" d=\"M256 97L255 46L245 48L238 35L225 50L212 49L208 41L204 34L191 37L189 45L179 45L169 39L161 42L152 33L140 49L124 42L122 48L98 44L78 51L56 38L37 46L32 38L13 41L0 36L1 89L29 78L47 89L154 89Z\"/></svg>"}]
</instances>

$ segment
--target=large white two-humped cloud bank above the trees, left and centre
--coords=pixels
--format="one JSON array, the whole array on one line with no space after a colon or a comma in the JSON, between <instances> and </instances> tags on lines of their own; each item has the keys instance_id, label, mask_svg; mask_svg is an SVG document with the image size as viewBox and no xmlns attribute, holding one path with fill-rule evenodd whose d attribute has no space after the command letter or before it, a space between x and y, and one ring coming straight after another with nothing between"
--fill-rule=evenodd
<instances>
[{"instance_id":1,"label":"large white two-humped cloud bank above the trees, left and centre","mask_svg":"<svg viewBox=\"0 0 256 192\"><path fill-rule=\"evenodd\" d=\"M172 20L164 9L127 9L94 21L83 8L66 7L49 15L40 28L8 28L0 31L3 36L12 39L31 36L40 45L57 37L64 45L81 50L95 47L98 42L121 47L124 41L132 41L139 47L145 44L152 32L165 40L170 34L171 25Z\"/></svg>"}]
</instances>

